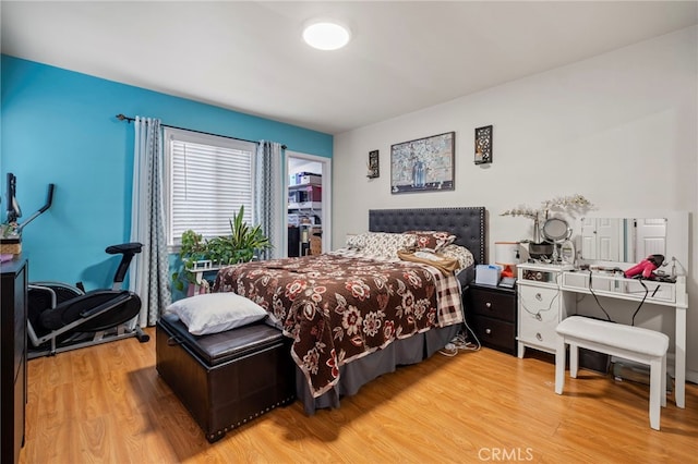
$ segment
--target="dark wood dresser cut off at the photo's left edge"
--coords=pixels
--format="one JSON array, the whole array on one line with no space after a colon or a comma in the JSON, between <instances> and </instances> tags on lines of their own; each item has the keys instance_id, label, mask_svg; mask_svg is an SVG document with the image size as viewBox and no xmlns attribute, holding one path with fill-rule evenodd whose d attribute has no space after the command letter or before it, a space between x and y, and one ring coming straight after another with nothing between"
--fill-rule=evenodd
<instances>
[{"instance_id":1,"label":"dark wood dresser cut off at the photo's left edge","mask_svg":"<svg viewBox=\"0 0 698 464\"><path fill-rule=\"evenodd\" d=\"M16 463L24 445L26 406L27 262L0 262L0 456Z\"/></svg>"}]
</instances>

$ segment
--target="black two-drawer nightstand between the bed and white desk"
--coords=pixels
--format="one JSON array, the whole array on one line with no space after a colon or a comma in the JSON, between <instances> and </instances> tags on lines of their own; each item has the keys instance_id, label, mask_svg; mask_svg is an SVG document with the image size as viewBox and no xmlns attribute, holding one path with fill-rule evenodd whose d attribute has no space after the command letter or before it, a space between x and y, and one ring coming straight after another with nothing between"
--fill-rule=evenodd
<instances>
[{"instance_id":1,"label":"black two-drawer nightstand between the bed and white desk","mask_svg":"<svg viewBox=\"0 0 698 464\"><path fill-rule=\"evenodd\" d=\"M466 320L483 346L516 355L516 289L471 283Z\"/></svg>"}]
</instances>

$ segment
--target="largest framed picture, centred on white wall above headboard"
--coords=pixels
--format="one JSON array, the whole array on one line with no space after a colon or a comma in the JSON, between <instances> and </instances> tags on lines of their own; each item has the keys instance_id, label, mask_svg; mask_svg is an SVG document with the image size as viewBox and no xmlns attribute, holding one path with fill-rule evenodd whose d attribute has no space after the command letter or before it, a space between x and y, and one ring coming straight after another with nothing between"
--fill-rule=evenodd
<instances>
[{"instance_id":1,"label":"largest framed picture, centred on white wall above headboard","mask_svg":"<svg viewBox=\"0 0 698 464\"><path fill-rule=\"evenodd\" d=\"M390 146L390 192L453 191L456 133Z\"/></svg>"}]
</instances>

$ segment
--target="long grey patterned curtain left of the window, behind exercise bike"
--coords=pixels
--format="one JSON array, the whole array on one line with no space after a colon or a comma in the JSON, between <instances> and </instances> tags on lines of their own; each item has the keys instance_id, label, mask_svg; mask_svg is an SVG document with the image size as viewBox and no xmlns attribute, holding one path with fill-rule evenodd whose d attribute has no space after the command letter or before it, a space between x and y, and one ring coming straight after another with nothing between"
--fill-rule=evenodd
<instances>
[{"instance_id":1,"label":"long grey patterned curtain left of the window, behind exercise bike","mask_svg":"<svg viewBox=\"0 0 698 464\"><path fill-rule=\"evenodd\" d=\"M135 118L131 242L143 252L131 267L130 289L143 303L141 327L154 326L172 301L165 240L164 151L160 120Z\"/></svg>"}]
</instances>

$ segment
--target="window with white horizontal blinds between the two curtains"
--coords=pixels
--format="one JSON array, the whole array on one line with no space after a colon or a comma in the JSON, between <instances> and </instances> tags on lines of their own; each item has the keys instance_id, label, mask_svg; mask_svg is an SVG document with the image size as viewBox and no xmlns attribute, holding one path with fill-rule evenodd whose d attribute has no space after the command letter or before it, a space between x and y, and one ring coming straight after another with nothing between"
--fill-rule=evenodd
<instances>
[{"instance_id":1,"label":"window with white horizontal blinds between the two curtains","mask_svg":"<svg viewBox=\"0 0 698 464\"><path fill-rule=\"evenodd\" d=\"M192 229L204 237L230 234L240 206L252 222L253 154L256 144L165 129L167 243Z\"/></svg>"}]
</instances>

